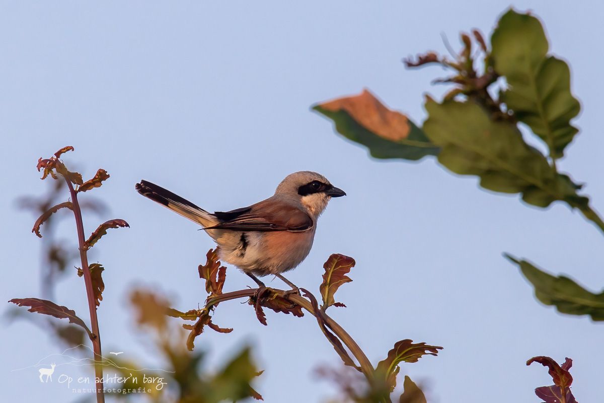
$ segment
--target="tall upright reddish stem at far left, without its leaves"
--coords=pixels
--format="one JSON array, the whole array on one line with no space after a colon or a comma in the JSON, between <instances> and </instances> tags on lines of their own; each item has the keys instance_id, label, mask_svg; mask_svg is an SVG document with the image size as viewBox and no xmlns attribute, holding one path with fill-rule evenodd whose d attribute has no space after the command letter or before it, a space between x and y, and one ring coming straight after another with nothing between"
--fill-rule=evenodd
<instances>
[{"instance_id":1,"label":"tall upright reddish stem at far left, without its leaves","mask_svg":"<svg viewBox=\"0 0 604 403\"><path fill-rule=\"evenodd\" d=\"M97 304L94 298L94 289L92 289L92 276L88 266L88 256L86 255L86 238L84 236L84 224L82 221L82 210L77 201L77 193L69 179L65 178L71 193L71 203L73 204L74 216L76 217L77 238L80 247L80 260L82 260L82 272L84 274L84 283L86 285L86 295L88 297L88 310L90 311L90 322L92 327L92 347L94 350L94 372L95 384L97 387L97 403L104 403L103 393L103 367L100 365L101 356L101 335L98 331Z\"/></svg>"}]
</instances>

